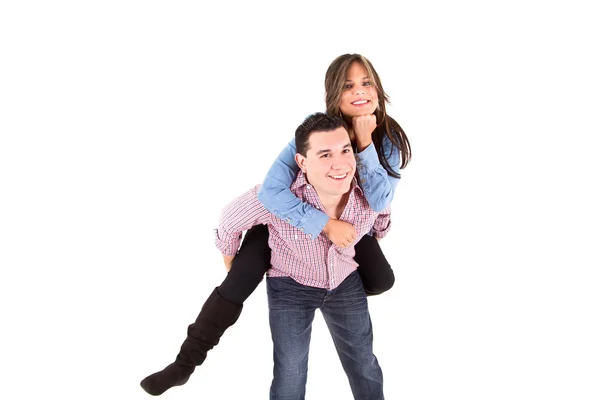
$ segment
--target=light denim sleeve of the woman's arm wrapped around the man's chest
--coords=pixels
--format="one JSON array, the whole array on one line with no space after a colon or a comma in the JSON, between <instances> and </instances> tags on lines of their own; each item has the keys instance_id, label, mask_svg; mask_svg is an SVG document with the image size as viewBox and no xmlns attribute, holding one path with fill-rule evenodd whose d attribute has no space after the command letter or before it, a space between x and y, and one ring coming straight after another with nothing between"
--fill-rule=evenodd
<instances>
[{"instance_id":1,"label":"light denim sleeve of the woman's arm wrapped around the man's chest","mask_svg":"<svg viewBox=\"0 0 600 400\"><path fill-rule=\"evenodd\" d=\"M292 140L267 172L258 200L272 214L316 238L329 221L329 216L303 202L290 190L300 170L295 156L296 142Z\"/></svg>"}]
</instances>

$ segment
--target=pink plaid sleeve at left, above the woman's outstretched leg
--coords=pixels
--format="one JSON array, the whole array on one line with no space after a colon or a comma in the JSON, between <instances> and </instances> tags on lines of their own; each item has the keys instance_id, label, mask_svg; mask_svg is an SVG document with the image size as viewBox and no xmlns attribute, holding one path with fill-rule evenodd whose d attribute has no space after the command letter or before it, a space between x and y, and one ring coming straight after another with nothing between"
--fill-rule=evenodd
<instances>
[{"instance_id":1,"label":"pink plaid sleeve at left, above the woman's outstretched leg","mask_svg":"<svg viewBox=\"0 0 600 400\"><path fill-rule=\"evenodd\" d=\"M226 256L235 256L242 240L242 232L255 225L267 224L270 213L258 201L256 185L234 199L221 212L219 226L215 229L215 244Z\"/></svg>"}]
</instances>

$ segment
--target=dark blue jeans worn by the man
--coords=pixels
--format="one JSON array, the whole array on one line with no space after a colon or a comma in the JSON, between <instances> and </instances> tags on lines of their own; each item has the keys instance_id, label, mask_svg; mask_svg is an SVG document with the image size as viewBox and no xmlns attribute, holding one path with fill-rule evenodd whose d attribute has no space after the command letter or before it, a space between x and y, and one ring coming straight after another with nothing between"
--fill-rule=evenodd
<instances>
[{"instance_id":1,"label":"dark blue jeans worn by the man","mask_svg":"<svg viewBox=\"0 0 600 400\"><path fill-rule=\"evenodd\" d=\"M333 290L304 286L292 278L267 278L273 338L271 400L302 400L315 310L321 309L354 399L383 399L383 375L373 354L373 328L358 272Z\"/></svg>"}]
</instances>

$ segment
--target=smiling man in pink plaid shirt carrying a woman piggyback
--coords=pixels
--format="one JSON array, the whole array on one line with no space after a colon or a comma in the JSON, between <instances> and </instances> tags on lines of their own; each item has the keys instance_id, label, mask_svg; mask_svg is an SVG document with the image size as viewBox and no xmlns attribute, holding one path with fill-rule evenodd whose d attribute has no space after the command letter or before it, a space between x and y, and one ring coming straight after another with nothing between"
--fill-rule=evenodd
<instances>
[{"instance_id":1,"label":"smiling man in pink plaid shirt carrying a woman piggyback","mask_svg":"<svg viewBox=\"0 0 600 400\"><path fill-rule=\"evenodd\" d=\"M325 235L312 239L270 214L258 201L260 186L221 213L216 244L231 263L244 230L269 228L272 268L267 273L274 377L271 400L304 399L311 325L319 308L333 337L355 399L383 399L383 376L373 354L373 332L354 244L365 234L385 236L389 209L373 211L354 178L356 161L344 122L323 113L296 130L300 173L291 186L302 200L330 218L351 223L358 233L340 248Z\"/></svg>"}]
</instances>

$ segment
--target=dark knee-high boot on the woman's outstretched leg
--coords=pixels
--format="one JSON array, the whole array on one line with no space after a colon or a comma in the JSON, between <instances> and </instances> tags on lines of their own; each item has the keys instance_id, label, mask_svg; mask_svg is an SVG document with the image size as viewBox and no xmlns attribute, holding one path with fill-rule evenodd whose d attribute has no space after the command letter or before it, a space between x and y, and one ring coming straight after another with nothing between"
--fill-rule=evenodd
<instances>
[{"instance_id":1,"label":"dark knee-high boot on the woman's outstretched leg","mask_svg":"<svg viewBox=\"0 0 600 400\"><path fill-rule=\"evenodd\" d=\"M219 343L225 330L237 321L242 307L223 298L215 288L196 321L188 327L187 338L175 362L142 380L142 388L158 396L173 386L186 383L196 366L204 362L206 353Z\"/></svg>"}]
</instances>

